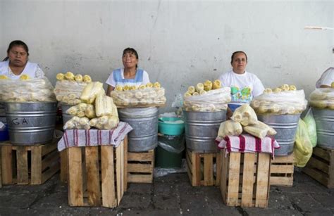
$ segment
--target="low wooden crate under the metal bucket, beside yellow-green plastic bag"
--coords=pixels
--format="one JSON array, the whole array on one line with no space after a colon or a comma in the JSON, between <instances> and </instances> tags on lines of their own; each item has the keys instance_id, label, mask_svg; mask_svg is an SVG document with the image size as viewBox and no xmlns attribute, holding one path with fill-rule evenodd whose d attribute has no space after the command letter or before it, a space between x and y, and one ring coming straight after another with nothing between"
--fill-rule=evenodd
<instances>
[{"instance_id":1,"label":"low wooden crate under the metal bucket, beside yellow-green plastic bag","mask_svg":"<svg viewBox=\"0 0 334 216\"><path fill-rule=\"evenodd\" d=\"M275 159L271 159L271 185L292 186L294 168L293 160L293 153L286 156L275 156Z\"/></svg>"}]
</instances>

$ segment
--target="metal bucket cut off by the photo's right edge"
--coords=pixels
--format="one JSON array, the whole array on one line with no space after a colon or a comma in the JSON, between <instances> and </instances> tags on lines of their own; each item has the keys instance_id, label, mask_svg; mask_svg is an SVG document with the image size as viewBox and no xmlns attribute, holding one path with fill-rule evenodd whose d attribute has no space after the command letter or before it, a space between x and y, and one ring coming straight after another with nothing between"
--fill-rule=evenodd
<instances>
[{"instance_id":1,"label":"metal bucket cut off by the photo's right edge","mask_svg":"<svg viewBox=\"0 0 334 216\"><path fill-rule=\"evenodd\" d=\"M317 145L334 149L334 110L312 109L316 120Z\"/></svg>"}]
</instances>

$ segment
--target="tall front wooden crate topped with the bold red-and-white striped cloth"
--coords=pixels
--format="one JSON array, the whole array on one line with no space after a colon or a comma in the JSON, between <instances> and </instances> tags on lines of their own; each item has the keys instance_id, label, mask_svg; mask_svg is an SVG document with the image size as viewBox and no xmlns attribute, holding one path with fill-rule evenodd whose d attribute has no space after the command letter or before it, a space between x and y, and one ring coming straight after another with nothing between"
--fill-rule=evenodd
<instances>
[{"instance_id":1,"label":"tall front wooden crate topped with the bold red-and-white striped cloth","mask_svg":"<svg viewBox=\"0 0 334 216\"><path fill-rule=\"evenodd\" d=\"M221 151L221 195L230 206L266 208L271 155Z\"/></svg>"}]
</instances>

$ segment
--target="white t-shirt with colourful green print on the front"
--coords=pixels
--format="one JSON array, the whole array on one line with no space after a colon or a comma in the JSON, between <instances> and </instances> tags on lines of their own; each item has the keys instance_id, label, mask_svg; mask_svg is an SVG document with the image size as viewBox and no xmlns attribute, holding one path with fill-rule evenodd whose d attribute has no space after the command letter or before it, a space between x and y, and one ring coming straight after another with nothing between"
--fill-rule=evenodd
<instances>
[{"instance_id":1,"label":"white t-shirt with colourful green print on the front","mask_svg":"<svg viewBox=\"0 0 334 216\"><path fill-rule=\"evenodd\" d=\"M256 75L245 71L242 75L230 70L219 77L223 87L231 88L232 103L250 103L264 92L264 85Z\"/></svg>"}]
</instances>

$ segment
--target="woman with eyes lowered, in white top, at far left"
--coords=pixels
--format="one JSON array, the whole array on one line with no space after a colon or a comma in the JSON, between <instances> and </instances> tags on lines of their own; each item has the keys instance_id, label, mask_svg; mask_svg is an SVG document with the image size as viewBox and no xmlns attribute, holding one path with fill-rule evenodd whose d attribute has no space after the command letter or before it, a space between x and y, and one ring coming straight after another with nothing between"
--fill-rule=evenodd
<instances>
[{"instance_id":1,"label":"woman with eyes lowered, in white top, at far left","mask_svg":"<svg viewBox=\"0 0 334 216\"><path fill-rule=\"evenodd\" d=\"M44 77L39 65L28 61L28 56L29 49L25 42L11 42L7 49L7 57L0 62L0 75L5 75L11 80L17 80L21 75L27 75L30 79Z\"/></svg>"}]
</instances>

